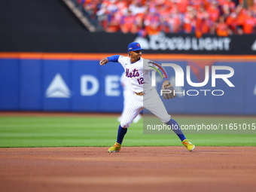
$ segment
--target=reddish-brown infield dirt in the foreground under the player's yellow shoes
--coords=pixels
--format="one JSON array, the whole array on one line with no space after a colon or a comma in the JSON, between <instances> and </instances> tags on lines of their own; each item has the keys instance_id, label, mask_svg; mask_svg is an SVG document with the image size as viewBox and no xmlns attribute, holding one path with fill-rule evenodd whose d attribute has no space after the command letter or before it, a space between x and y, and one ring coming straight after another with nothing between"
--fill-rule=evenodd
<instances>
[{"instance_id":1,"label":"reddish-brown infield dirt in the foreground under the player's yellow shoes","mask_svg":"<svg viewBox=\"0 0 256 192\"><path fill-rule=\"evenodd\" d=\"M0 148L1 191L256 191L256 147Z\"/></svg>"}]
</instances>

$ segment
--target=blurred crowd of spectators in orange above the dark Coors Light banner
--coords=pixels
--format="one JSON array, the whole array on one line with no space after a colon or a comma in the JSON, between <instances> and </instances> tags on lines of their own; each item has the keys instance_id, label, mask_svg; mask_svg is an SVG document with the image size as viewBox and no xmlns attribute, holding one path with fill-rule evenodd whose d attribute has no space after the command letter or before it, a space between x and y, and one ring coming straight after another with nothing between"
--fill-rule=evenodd
<instances>
[{"instance_id":1,"label":"blurred crowd of spectators in orange above the dark Coors Light banner","mask_svg":"<svg viewBox=\"0 0 256 192\"><path fill-rule=\"evenodd\" d=\"M105 32L256 33L256 0L78 0Z\"/></svg>"}]
</instances>

